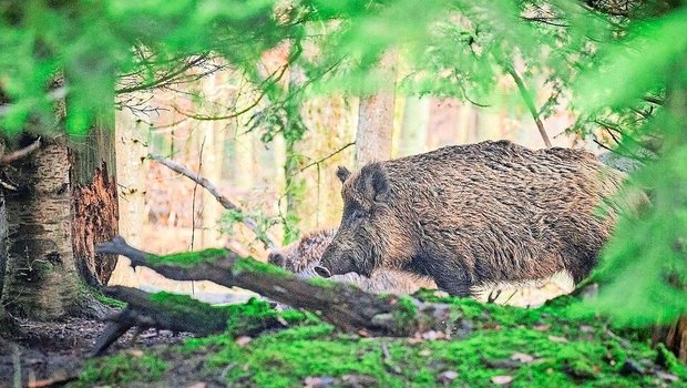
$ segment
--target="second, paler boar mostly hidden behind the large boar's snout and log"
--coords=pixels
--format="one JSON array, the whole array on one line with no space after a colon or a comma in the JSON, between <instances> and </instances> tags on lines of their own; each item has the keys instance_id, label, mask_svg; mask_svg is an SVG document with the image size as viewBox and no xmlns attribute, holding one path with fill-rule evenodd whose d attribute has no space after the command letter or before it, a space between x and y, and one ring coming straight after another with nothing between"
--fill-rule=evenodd
<instances>
[{"instance_id":1,"label":"second, paler boar mostly hidden behind the large boar's snout and log","mask_svg":"<svg viewBox=\"0 0 687 388\"><path fill-rule=\"evenodd\" d=\"M335 234L336 229L307 234L291 245L270 252L268 262L306 277L318 276L314 268L319 265L319 259ZM360 289L378 294L412 294L420 288L437 288L437 284L425 276L394 269L375 270L370 277L349 273L332 276L331 279L353 284Z\"/></svg>"}]
</instances>

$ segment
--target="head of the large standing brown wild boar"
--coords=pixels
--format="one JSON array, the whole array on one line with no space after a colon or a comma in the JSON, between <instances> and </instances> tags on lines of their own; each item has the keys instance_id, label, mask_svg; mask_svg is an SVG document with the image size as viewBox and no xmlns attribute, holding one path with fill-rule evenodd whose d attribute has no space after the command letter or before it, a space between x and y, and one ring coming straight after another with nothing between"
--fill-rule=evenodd
<instances>
[{"instance_id":1,"label":"head of the large standing brown wild boar","mask_svg":"<svg viewBox=\"0 0 687 388\"><path fill-rule=\"evenodd\" d=\"M350 272L369 277L382 258L408 256L409 231L393 206L393 188L381 164L352 174L339 167L337 176L344 183L341 224L315 270L324 277Z\"/></svg>"}]
</instances>

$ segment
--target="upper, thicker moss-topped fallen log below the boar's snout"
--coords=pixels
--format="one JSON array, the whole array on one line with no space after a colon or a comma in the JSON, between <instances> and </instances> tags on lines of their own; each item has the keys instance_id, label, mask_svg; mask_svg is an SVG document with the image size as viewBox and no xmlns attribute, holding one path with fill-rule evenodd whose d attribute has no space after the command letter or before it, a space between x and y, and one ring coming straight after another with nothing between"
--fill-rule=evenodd
<instances>
[{"instance_id":1,"label":"upper, thicker moss-topped fallen log below the boar's snout","mask_svg":"<svg viewBox=\"0 0 687 388\"><path fill-rule=\"evenodd\" d=\"M407 296L368 294L349 284L304 279L276 266L239 257L226 249L206 249L167 256L153 255L124 238L100 244L100 254L123 255L176 280L211 280L253 290L281 304L310 310L347 333L368 336L413 336L444 331L451 306L421 303Z\"/></svg>"}]
</instances>

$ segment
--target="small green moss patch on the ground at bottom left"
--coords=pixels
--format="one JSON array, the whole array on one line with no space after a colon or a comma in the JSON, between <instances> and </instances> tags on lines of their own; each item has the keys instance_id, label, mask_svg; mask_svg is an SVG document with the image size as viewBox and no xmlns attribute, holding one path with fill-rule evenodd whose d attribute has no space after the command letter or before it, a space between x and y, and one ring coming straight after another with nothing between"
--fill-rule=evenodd
<instances>
[{"instance_id":1,"label":"small green moss patch on the ground at bottom left","mask_svg":"<svg viewBox=\"0 0 687 388\"><path fill-rule=\"evenodd\" d=\"M116 355L91 360L79 375L78 385L121 385L160 380L167 370L167 363L151 356Z\"/></svg>"}]
</instances>

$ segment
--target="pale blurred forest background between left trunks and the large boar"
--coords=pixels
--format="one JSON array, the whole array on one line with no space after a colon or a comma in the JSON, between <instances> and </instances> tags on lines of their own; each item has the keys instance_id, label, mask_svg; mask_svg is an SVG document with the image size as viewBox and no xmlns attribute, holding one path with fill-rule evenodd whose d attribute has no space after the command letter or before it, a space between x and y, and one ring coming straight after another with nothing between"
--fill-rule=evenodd
<instances>
[{"instance_id":1,"label":"pale blurred forest background between left trunks and the large boar","mask_svg":"<svg viewBox=\"0 0 687 388\"><path fill-rule=\"evenodd\" d=\"M275 72L287 65L288 47L264 54L259 67ZM134 92L131 106L116 114L117 182L122 235L152 252L167 254L229 245L266 259L267 249L244 224L233 222L215 197L195 182L146 159L152 153L174 160L214 183L219 192L258 219L264 232L277 244L319 228L336 227L341 216L338 165L355 165L359 98L314 96L300 108L305 125L303 139L287 150L284 139L265 137L268 129L255 124L256 115L269 103L249 106L259 91L228 63L206 64L208 74L162 93ZM402 59L397 73L403 76ZM407 67L406 67L407 68ZM195 70L197 73L197 70ZM194 72L188 71L188 76ZM286 70L283 82L294 76ZM297 76L297 75L296 75ZM397 81L397 83L398 83ZM534 78L540 90L537 106L551 95L542 76ZM495 96L517 94L510 76L499 81ZM135 102L135 103L134 103ZM522 103L478 106L455 98L397 94L393 102L390 139L392 157L427 152L444 145L507 139L532 149L544 147L536 125ZM225 118L222 112L242 111ZM543 119L555 146L605 151L592 140L567 133L574 114L556 109ZM601 131L599 131L601 135ZM287 153L295 165L286 170ZM287 190L287 174L289 185ZM293 206L286 195L293 197ZM288 235L287 228L291 234ZM144 270L144 269L143 269ZM165 280L152 272L134 274L122 261L111 284L172 287L191 292L189 284ZM211 284L193 292L218 289Z\"/></svg>"}]
</instances>

